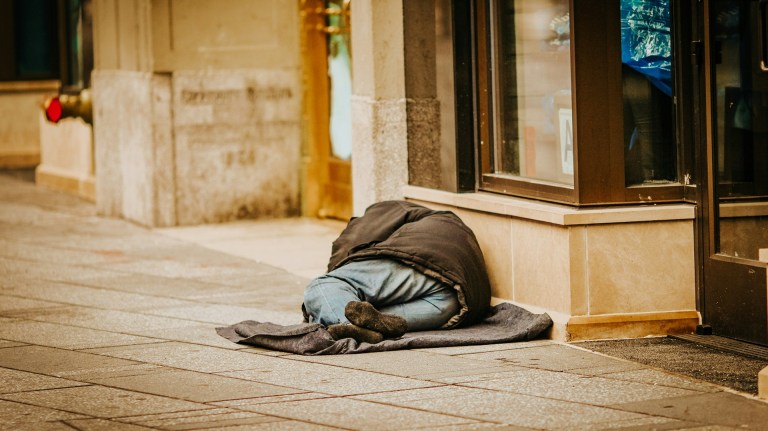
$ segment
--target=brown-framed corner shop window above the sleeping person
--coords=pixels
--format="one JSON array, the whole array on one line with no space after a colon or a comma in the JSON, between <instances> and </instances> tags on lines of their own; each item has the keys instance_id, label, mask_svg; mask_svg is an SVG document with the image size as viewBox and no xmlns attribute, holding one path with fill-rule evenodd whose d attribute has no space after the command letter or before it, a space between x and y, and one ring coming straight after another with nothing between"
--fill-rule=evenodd
<instances>
[{"instance_id":1,"label":"brown-framed corner shop window above the sleeping person","mask_svg":"<svg viewBox=\"0 0 768 431\"><path fill-rule=\"evenodd\" d=\"M684 62L673 55L669 0L477 0L474 9L480 190L574 205L684 199L675 103Z\"/></svg>"}]
</instances>

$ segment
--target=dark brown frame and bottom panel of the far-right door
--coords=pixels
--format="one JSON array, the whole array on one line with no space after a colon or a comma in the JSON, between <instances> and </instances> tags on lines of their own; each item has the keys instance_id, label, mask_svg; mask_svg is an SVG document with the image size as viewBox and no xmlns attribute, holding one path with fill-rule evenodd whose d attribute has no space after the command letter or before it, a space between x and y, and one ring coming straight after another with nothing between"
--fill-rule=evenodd
<instances>
[{"instance_id":1,"label":"dark brown frame and bottom panel of the far-right door","mask_svg":"<svg viewBox=\"0 0 768 431\"><path fill-rule=\"evenodd\" d=\"M717 194L717 148L713 132L717 127L713 92L715 61L711 43L710 0L693 2L695 57L701 64L694 70L694 86L698 93L694 103L698 111L698 214L696 221L699 282L697 299L703 323L716 335L768 345L768 298L766 264L717 253L719 205ZM697 34L693 37L696 38ZM696 52L696 51L699 52Z\"/></svg>"}]
</instances>

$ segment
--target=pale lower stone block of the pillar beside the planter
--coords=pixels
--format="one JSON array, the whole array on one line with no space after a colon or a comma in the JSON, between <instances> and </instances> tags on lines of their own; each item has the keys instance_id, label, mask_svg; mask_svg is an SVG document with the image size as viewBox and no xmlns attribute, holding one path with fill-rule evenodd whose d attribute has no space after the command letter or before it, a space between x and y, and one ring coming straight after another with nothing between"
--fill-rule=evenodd
<instances>
[{"instance_id":1,"label":"pale lower stone block of the pillar beside the planter","mask_svg":"<svg viewBox=\"0 0 768 431\"><path fill-rule=\"evenodd\" d=\"M91 79L99 212L149 226L176 224L170 78L97 70Z\"/></svg>"}]
</instances>

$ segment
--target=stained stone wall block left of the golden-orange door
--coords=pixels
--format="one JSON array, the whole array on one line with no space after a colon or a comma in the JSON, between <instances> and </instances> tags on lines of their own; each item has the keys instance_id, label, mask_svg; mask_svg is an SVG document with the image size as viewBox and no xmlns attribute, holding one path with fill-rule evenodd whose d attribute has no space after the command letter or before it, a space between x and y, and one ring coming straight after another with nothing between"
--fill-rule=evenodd
<instances>
[{"instance_id":1,"label":"stained stone wall block left of the golden-orange door","mask_svg":"<svg viewBox=\"0 0 768 431\"><path fill-rule=\"evenodd\" d=\"M179 224L298 214L299 89L291 70L174 74Z\"/></svg>"}]
</instances>

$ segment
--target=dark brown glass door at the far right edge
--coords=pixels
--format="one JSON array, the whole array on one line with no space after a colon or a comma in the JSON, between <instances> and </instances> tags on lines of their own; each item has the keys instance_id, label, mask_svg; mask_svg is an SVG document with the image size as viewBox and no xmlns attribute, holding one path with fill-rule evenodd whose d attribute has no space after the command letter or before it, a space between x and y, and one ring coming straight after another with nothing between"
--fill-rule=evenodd
<instances>
[{"instance_id":1,"label":"dark brown glass door at the far right edge","mask_svg":"<svg viewBox=\"0 0 768 431\"><path fill-rule=\"evenodd\" d=\"M703 319L717 335L768 345L766 2L705 1L703 15Z\"/></svg>"}]
</instances>

